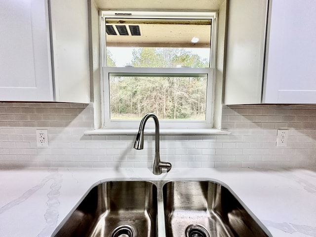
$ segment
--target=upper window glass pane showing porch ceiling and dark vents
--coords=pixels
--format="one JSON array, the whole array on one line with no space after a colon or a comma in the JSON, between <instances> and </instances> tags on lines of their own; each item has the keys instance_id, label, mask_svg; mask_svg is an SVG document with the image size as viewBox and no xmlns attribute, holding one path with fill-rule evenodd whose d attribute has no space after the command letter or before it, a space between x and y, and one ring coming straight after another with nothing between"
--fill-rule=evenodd
<instances>
[{"instance_id":1,"label":"upper window glass pane showing porch ceiling and dark vents","mask_svg":"<svg viewBox=\"0 0 316 237\"><path fill-rule=\"evenodd\" d=\"M210 65L211 19L106 19L108 67Z\"/></svg>"}]
</instances>

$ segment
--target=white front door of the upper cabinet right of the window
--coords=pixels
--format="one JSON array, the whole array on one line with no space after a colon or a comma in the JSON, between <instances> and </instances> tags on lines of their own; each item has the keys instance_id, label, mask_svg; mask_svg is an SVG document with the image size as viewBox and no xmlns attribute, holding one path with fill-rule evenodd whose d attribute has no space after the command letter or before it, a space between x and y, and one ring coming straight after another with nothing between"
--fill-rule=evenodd
<instances>
[{"instance_id":1,"label":"white front door of the upper cabinet right of the window","mask_svg":"<svg viewBox=\"0 0 316 237\"><path fill-rule=\"evenodd\" d=\"M316 1L271 0L263 103L316 103Z\"/></svg>"}]
</instances>

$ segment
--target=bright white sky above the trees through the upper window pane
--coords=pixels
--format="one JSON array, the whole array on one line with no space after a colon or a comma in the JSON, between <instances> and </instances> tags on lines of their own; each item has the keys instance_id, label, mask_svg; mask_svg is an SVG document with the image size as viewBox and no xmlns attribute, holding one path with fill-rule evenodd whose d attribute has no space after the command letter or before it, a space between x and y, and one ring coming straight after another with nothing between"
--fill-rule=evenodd
<instances>
[{"instance_id":1,"label":"bright white sky above the trees through the upper window pane","mask_svg":"<svg viewBox=\"0 0 316 237\"><path fill-rule=\"evenodd\" d=\"M117 67L125 67L127 64L131 64L132 51L133 49L138 49L136 47L107 47L110 49L113 60L115 61ZM199 55L201 58L209 58L209 50L205 48L187 48L187 50L192 51L194 54Z\"/></svg>"}]
</instances>

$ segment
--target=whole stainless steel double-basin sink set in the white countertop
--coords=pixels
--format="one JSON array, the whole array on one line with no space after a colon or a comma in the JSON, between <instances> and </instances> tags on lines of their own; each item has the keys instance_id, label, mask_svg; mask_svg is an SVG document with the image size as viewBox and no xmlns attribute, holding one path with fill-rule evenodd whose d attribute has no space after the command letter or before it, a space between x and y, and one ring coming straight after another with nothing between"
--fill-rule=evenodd
<instances>
[{"instance_id":1,"label":"whole stainless steel double-basin sink set in the white countertop","mask_svg":"<svg viewBox=\"0 0 316 237\"><path fill-rule=\"evenodd\" d=\"M272 237L217 181L105 181L52 237Z\"/></svg>"}]
</instances>

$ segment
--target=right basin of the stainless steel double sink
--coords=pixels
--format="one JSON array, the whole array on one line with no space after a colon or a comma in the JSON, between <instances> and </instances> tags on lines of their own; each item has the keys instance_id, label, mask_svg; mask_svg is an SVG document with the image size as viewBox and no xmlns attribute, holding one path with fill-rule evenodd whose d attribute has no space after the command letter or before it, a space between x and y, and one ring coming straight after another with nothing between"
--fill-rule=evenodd
<instances>
[{"instance_id":1,"label":"right basin of the stainless steel double sink","mask_svg":"<svg viewBox=\"0 0 316 237\"><path fill-rule=\"evenodd\" d=\"M268 237L228 188L212 181L163 186L166 237Z\"/></svg>"}]
</instances>

